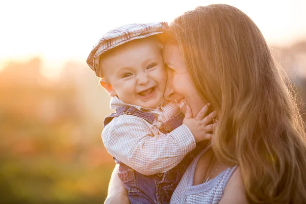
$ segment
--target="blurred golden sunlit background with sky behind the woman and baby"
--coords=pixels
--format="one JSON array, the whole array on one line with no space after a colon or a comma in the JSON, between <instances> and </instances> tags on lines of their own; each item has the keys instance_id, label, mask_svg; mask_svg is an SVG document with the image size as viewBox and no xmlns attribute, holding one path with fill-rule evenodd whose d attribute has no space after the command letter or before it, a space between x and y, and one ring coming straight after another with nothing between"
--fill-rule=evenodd
<instances>
[{"instance_id":1,"label":"blurred golden sunlit background with sky behind the woman and baby","mask_svg":"<svg viewBox=\"0 0 306 204\"><path fill-rule=\"evenodd\" d=\"M306 1L1 1L0 203L102 203L112 112L86 58L108 30L225 3L261 29L306 101ZM304 117L305 118L305 117Z\"/></svg>"}]
</instances>

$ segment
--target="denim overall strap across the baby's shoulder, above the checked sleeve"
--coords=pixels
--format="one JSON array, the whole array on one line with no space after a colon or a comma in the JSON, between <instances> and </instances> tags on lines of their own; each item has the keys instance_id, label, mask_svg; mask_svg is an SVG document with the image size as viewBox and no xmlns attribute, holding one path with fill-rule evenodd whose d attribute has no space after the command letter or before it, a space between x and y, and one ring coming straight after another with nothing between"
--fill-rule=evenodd
<instances>
[{"instance_id":1,"label":"denim overall strap across the baby's shoulder, above the checked sleeve","mask_svg":"<svg viewBox=\"0 0 306 204\"><path fill-rule=\"evenodd\" d=\"M107 116L104 119L104 122L103 122L104 126L106 126L108 123L110 123L114 117L117 117L117 116L123 115L123 114L134 115L134 116L140 117L140 118L146 120L150 124L152 124L154 122L154 120L157 119L157 117L158 117L154 113L141 111L141 110L138 110L137 108L135 108L133 106L121 106L121 107L116 109L115 113L110 114L109 116Z\"/></svg>"}]
</instances>

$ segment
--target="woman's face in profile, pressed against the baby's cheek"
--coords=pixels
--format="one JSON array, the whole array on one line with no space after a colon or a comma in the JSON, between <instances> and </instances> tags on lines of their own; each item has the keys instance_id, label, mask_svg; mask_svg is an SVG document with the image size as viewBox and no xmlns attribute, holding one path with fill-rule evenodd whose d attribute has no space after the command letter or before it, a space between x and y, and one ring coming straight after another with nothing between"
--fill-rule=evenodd
<instances>
[{"instance_id":1,"label":"woman's face in profile, pressed against the baby's cheek","mask_svg":"<svg viewBox=\"0 0 306 204\"><path fill-rule=\"evenodd\" d=\"M163 48L163 59L168 71L168 81L164 97L166 99L176 99L179 104L186 100L187 102L182 108L182 112L185 113L186 106L190 105L192 115L195 117L205 103L197 92L185 67L179 46L166 44Z\"/></svg>"}]
</instances>

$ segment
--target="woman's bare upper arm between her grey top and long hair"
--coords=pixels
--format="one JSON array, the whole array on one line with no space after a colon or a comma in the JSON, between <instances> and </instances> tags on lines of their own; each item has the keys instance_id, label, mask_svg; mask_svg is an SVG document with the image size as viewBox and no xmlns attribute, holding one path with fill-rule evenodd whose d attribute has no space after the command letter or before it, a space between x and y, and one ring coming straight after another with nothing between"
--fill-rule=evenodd
<instances>
[{"instance_id":1,"label":"woman's bare upper arm between her grey top and long hair","mask_svg":"<svg viewBox=\"0 0 306 204\"><path fill-rule=\"evenodd\" d=\"M236 203L236 204L247 204L249 203L245 194L245 187L241 177L241 171L238 167L228 181L224 194L219 204Z\"/></svg>"}]
</instances>

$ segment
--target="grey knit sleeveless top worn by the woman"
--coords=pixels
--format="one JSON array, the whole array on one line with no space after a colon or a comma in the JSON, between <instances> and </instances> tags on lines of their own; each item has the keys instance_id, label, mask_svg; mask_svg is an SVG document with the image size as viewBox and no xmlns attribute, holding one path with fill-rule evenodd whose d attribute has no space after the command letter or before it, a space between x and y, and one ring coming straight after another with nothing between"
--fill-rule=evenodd
<instances>
[{"instance_id":1,"label":"grey knit sleeveless top worn by the woman","mask_svg":"<svg viewBox=\"0 0 306 204\"><path fill-rule=\"evenodd\" d=\"M219 175L214 177L214 179L193 186L194 172L196 165L200 157L209 149L210 147L203 149L192 161L192 163L187 168L185 174L183 175L179 185L177 185L174 190L170 204L177 203L218 203L225 189L225 186L230 180L230 177L236 170L237 166L229 167L222 171Z\"/></svg>"}]
</instances>

